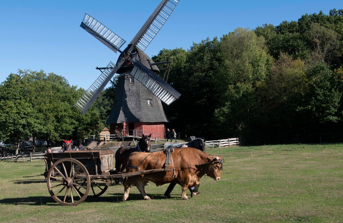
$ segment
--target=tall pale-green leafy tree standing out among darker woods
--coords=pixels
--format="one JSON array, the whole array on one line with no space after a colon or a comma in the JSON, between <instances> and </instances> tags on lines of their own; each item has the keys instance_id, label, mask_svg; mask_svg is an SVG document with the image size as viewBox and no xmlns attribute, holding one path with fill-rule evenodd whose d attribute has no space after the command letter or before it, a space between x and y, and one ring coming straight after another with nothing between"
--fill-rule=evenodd
<instances>
[{"instance_id":1,"label":"tall pale-green leafy tree standing out among darker woods","mask_svg":"<svg viewBox=\"0 0 343 223\"><path fill-rule=\"evenodd\" d=\"M264 38L252 30L237 28L221 39L221 66L213 77L221 93L214 111L218 136L246 136L257 109L256 88L268 77L272 58Z\"/></svg>"}]
</instances>

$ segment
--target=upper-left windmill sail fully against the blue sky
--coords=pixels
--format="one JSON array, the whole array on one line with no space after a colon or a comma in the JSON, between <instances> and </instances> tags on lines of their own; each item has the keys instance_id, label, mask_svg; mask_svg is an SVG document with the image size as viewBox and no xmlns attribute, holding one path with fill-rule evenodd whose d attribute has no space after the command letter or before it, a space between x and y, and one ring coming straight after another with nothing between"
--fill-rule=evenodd
<instances>
[{"instance_id":1,"label":"upper-left windmill sail fully against the blue sky","mask_svg":"<svg viewBox=\"0 0 343 223\"><path fill-rule=\"evenodd\" d=\"M84 30L89 32L92 36L104 43L109 49L115 53L126 42L120 38L117 34L112 32L109 28L97 21L92 16L85 14L83 21L80 25Z\"/></svg>"}]
</instances>

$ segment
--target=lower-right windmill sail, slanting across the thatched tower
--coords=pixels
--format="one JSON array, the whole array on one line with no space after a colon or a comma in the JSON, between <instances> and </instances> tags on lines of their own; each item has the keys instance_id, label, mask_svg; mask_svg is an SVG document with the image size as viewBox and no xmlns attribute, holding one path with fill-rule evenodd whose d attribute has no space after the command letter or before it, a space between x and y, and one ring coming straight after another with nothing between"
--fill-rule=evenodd
<instances>
[{"instance_id":1,"label":"lower-right windmill sail, slanting across the thatched tower","mask_svg":"<svg viewBox=\"0 0 343 223\"><path fill-rule=\"evenodd\" d=\"M129 59L134 64L134 68L131 71L131 76L141 82L149 91L151 91L162 102L169 105L180 97L180 93L173 87L167 84L162 78L158 77L149 68L144 66L139 61Z\"/></svg>"}]
</instances>

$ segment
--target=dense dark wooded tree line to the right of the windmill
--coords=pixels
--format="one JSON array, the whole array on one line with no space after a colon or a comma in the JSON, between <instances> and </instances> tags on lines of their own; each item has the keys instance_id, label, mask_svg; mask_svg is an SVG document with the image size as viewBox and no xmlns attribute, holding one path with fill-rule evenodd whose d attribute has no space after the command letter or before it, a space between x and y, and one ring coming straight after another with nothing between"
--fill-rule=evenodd
<instances>
[{"instance_id":1,"label":"dense dark wooded tree line to the right of the windmill","mask_svg":"<svg viewBox=\"0 0 343 223\"><path fill-rule=\"evenodd\" d=\"M282 143L295 134L342 132L343 10L278 26L237 28L189 50L163 49L170 126L207 139Z\"/></svg>"}]
</instances>

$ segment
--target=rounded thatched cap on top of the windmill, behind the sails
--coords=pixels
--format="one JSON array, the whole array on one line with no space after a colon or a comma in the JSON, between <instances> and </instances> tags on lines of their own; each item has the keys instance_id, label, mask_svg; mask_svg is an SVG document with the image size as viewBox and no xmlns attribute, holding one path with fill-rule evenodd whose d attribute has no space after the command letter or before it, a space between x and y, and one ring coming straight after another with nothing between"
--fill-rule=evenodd
<instances>
[{"instance_id":1,"label":"rounded thatched cap on top of the windmill, behind the sails","mask_svg":"<svg viewBox=\"0 0 343 223\"><path fill-rule=\"evenodd\" d=\"M159 73L159 69L156 65L150 66L149 64L154 63L153 60L146 55L143 51L141 51L139 48L135 48L135 50L131 53L130 57L133 60L139 60L144 66L152 70L154 73ZM118 58L119 60L119 58ZM133 64L131 62L126 61L125 64L123 64L118 70L117 74L123 74L130 72L133 69Z\"/></svg>"}]
</instances>

